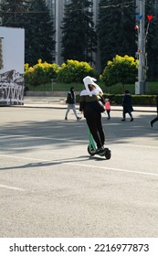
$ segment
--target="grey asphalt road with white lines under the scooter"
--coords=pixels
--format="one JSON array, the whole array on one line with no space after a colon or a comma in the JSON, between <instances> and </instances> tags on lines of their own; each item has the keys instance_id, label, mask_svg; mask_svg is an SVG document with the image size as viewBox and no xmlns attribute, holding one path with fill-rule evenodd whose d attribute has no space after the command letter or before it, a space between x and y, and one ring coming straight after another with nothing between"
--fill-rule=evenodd
<instances>
[{"instance_id":1,"label":"grey asphalt road with white lines under the scooter","mask_svg":"<svg viewBox=\"0 0 158 256\"><path fill-rule=\"evenodd\" d=\"M158 237L158 123L102 114L111 160L87 152L84 119L0 108L0 237Z\"/></svg>"}]
</instances>

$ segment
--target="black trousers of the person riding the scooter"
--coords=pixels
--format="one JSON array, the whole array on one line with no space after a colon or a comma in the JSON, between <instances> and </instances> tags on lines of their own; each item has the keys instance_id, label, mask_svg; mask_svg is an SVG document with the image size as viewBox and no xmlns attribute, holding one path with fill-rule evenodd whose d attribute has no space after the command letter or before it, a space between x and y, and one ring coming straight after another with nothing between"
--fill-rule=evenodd
<instances>
[{"instance_id":1,"label":"black trousers of the person riding the scooter","mask_svg":"<svg viewBox=\"0 0 158 256\"><path fill-rule=\"evenodd\" d=\"M100 148L105 142L105 135L101 123L101 114L100 112L90 115L88 114L85 118L88 123L90 133L92 134L97 147Z\"/></svg>"}]
</instances>

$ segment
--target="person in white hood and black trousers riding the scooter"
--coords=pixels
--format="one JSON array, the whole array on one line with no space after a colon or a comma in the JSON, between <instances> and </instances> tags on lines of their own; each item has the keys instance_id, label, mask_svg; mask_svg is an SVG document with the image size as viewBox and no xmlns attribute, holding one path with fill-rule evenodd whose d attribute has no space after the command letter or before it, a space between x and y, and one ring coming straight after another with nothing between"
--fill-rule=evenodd
<instances>
[{"instance_id":1,"label":"person in white hood and black trousers riding the scooter","mask_svg":"<svg viewBox=\"0 0 158 256\"><path fill-rule=\"evenodd\" d=\"M83 79L85 90L80 92L79 111L83 112L90 133L97 144L95 153L102 153L104 152L105 134L101 123L101 112L104 112L105 108L100 102L103 93L94 81L96 80L89 76Z\"/></svg>"}]
</instances>

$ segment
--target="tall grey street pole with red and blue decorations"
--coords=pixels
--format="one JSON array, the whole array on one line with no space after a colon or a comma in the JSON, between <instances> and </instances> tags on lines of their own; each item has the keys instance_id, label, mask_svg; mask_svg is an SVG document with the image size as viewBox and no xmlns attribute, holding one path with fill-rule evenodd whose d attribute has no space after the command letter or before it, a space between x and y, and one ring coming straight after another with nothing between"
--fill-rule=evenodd
<instances>
[{"instance_id":1,"label":"tall grey street pole with red and blue decorations","mask_svg":"<svg viewBox=\"0 0 158 256\"><path fill-rule=\"evenodd\" d=\"M144 20L145 20L145 0L139 0L140 9L140 24L139 24L139 37L138 37L138 56L139 56L139 68L138 68L138 82L136 82L136 94L144 94L145 92L145 32L144 32Z\"/></svg>"}]
</instances>

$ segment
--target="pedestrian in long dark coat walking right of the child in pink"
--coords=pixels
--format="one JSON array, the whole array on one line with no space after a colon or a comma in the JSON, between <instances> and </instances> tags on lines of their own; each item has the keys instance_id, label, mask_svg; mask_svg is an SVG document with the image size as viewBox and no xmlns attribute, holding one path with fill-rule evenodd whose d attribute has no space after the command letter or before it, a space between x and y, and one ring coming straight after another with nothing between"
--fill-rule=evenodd
<instances>
[{"instance_id":1,"label":"pedestrian in long dark coat walking right of the child in pink","mask_svg":"<svg viewBox=\"0 0 158 256\"><path fill-rule=\"evenodd\" d=\"M122 107L123 107L123 119L121 119L121 121L126 121L126 113L129 113L130 117L131 117L131 122L133 121L133 117L132 117L132 112L133 112L133 108L132 108L132 96L130 94L130 92L128 90L125 90L124 92L124 97L121 101Z\"/></svg>"}]
</instances>

